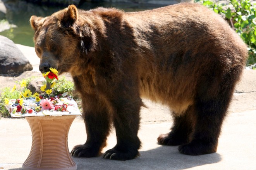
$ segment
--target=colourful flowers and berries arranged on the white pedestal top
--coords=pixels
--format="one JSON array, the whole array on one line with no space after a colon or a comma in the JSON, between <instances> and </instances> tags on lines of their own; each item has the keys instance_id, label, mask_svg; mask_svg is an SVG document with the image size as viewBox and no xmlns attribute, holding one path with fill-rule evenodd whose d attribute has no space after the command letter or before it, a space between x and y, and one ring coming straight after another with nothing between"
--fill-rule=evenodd
<instances>
[{"instance_id":1,"label":"colourful flowers and berries arranged on the white pedestal top","mask_svg":"<svg viewBox=\"0 0 256 170\"><path fill-rule=\"evenodd\" d=\"M9 113L13 113L15 116L22 116L23 114L37 114L40 111L43 111L43 114L46 113L46 111L77 112L76 108L69 107L76 105L76 102L72 100L70 96L64 98L68 93L56 96L52 95L52 88L56 84L55 81L58 80L57 69L50 68L50 71L45 72L42 75L45 77L46 83L40 89L45 94L42 94L43 96L37 92L32 94L32 92L27 89L27 82L22 80L19 84L23 89L18 91L16 85L14 85L11 91L17 91L19 93L19 99L9 100L8 98L5 98L5 104L7 109L9 109Z\"/></svg>"}]
</instances>

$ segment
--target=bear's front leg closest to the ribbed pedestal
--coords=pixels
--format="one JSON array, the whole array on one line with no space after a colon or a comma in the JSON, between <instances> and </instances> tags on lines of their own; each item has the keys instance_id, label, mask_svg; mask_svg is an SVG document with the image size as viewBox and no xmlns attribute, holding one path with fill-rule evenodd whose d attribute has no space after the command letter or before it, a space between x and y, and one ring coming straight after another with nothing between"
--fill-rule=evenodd
<instances>
[{"instance_id":1,"label":"bear's front leg closest to the ribbed pedestal","mask_svg":"<svg viewBox=\"0 0 256 170\"><path fill-rule=\"evenodd\" d=\"M82 102L87 140L83 145L74 146L70 154L72 157L97 157L106 146L110 131L109 113L96 95L82 96Z\"/></svg>"}]
</instances>

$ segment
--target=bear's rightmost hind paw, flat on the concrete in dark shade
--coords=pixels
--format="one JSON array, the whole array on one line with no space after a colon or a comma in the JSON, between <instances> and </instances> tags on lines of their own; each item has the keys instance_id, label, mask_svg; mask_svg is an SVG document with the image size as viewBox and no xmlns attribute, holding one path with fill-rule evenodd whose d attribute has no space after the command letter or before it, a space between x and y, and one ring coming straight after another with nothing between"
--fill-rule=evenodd
<instances>
[{"instance_id":1,"label":"bear's rightmost hind paw, flat on the concrete in dark shade","mask_svg":"<svg viewBox=\"0 0 256 170\"><path fill-rule=\"evenodd\" d=\"M213 143L191 142L187 145L179 146L179 151L185 155L203 155L216 152L217 145Z\"/></svg>"}]
</instances>

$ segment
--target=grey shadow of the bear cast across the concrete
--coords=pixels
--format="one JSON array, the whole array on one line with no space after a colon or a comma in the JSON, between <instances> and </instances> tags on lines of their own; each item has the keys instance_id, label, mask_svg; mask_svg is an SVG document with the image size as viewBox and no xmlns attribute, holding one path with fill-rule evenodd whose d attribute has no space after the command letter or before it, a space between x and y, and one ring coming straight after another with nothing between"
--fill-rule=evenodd
<instances>
[{"instance_id":1,"label":"grey shadow of the bear cast across the concrete","mask_svg":"<svg viewBox=\"0 0 256 170\"><path fill-rule=\"evenodd\" d=\"M218 153L190 156L179 153L177 146L159 146L140 151L141 156L134 160L115 161L96 158L74 158L77 170L182 170L221 161Z\"/></svg>"}]
</instances>

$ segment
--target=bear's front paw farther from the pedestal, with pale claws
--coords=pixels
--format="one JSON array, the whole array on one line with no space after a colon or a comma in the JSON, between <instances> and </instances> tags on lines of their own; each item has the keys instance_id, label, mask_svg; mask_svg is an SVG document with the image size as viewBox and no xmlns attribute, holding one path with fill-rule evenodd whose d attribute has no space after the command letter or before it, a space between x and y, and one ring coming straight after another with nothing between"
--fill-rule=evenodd
<instances>
[{"instance_id":1,"label":"bear's front paw farther from the pedestal, with pale claws","mask_svg":"<svg viewBox=\"0 0 256 170\"><path fill-rule=\"evenodd\" d=\"M103 154L104 159L110 160L130 160L139 156L138 150L118 151L112 148Z\"/></svg>"}]
</instances>

